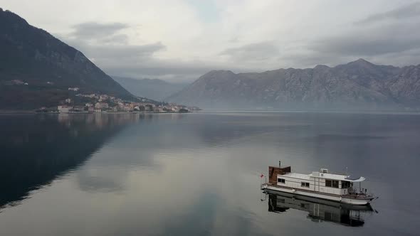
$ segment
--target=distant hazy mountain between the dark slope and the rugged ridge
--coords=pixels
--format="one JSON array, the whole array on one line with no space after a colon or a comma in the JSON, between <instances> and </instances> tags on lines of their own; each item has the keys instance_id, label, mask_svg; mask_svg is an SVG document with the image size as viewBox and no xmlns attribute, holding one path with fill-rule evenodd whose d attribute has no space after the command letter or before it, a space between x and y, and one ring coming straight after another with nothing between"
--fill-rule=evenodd
<instances>
[{"instance_id":1,"label":"distant hazy mountain between the dark slope and the rugged ridge","mask_svg":"<svg viewBox=\"0 0 420 236\"><path fill-rule=\"evenodd\" d=\"M172 83L158 79L132 79L127 77L112 76L114 80L120 83L122 87L125 87L133 95L139 97L148 97L152 100L162 101L169 95L175 92L181 91L187 84L184 83Z\"/></svg>"}]
</instances>

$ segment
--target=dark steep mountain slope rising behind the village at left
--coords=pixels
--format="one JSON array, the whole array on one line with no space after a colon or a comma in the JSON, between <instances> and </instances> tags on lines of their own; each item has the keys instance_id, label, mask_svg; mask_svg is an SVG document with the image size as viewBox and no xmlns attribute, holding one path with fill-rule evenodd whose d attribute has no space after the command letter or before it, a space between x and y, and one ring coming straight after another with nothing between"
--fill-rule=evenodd
<instances>
[{"instance_id":1,"label":"dark steep mountain slope rising behind the village at left","mask_svg":"<svg viewBox=\"0 0 420 236\"><path fill-rule=\"evenodd\" d=\"M56 106L68 87L133 99L83 53L0 9L0 109Z\"/></svg>"}]
</instances>

